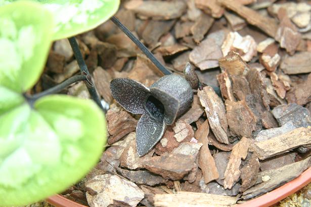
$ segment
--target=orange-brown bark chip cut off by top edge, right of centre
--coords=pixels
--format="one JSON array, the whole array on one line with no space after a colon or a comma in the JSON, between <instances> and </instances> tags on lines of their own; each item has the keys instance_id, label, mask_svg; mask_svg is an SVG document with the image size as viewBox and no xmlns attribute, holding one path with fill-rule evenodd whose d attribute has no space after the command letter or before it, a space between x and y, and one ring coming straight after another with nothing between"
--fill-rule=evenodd
<instances>
[{"instance_id":1,"label":"orange-brown bark chip cut off by top edge, right of centre","mask_svg":"<svg viewBox=\"0 0 311 207\"><path fill-rule=\"evenodd\" d=\"M211 14L214 18L219 18L223 16L225 9L222 8L218 3L217 0L195 0L195 4L197 8L203 10L207 14Z\"/></svg>"}]
</instances>

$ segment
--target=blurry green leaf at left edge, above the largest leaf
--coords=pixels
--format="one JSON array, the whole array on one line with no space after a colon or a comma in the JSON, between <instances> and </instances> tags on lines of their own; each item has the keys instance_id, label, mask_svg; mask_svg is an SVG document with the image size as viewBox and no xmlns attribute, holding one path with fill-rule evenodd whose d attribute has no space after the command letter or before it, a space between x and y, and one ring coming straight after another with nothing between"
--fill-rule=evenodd
<instances>
[{"instance_id":1,"label":"blurry green leaf at left edge, above the largest leaf","mask_svg":"<svg viewBox=\"0 0 311 207\"><path fill-rule=\"evenodd\" d=\"M31 88L46 62L53 17L39 4L0 7L0 84L16 92Z\"/></svg>"}]
</instances>

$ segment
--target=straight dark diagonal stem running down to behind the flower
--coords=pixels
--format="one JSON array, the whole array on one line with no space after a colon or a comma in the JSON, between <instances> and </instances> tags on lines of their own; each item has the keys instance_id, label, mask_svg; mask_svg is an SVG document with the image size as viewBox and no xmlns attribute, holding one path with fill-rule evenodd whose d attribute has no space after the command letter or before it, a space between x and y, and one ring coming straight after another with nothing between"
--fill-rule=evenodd
<instances>
[{"instance_id":1,"label":"straight dark diagonal stem running down to behind the flower","mask_svg":"<svg viewBox=\"0 0 311 207\"><path fill-rule=\"evenodd\" d=\"M111 17L110 20L117 25L119 29L121 29L126 36L128 36L142 51L143 53L151 60L151 62L164 74L169 75L172 74L169 70L167 70L149 51L149 49L136 37L132 34L116 17Z\"/></svg>"}]
</instances>

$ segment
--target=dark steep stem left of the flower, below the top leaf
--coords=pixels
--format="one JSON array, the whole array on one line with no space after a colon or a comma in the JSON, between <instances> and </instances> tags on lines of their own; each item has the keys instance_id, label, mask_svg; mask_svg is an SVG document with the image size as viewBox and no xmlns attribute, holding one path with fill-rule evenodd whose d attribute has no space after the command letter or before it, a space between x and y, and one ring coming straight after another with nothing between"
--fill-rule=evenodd
<instances>
[{"instance_id":1,"label":"dark steep stem left of the flower, below the top leaf","mask_svg":"<svg viewBox=\"0 0 311 207\"><path fill-rule=\"evenodd\" d=\"M92 81L90 72L88 72L87 66L86 66L86 64L85 64L85 62L83 60L83 57L82 57L82 54L81 54L81 51L80 51L80 48L79 48L79 45L77 43L76 38L75 37L69 37L68 40L69 40L69 43L70 43L71 48L73 50L74 57L75 57L75 59L78 62L78 65L79 65L81 73L82 74L83 73L86 74L87 81L88 81L88 84L86 84L86 86L87 86L88 92L90 93L92 99L97 103L97 105L102 110L104 110L104 108L102 106L102 103L101 103L101 100L100 100L100 98L99 98L99 96L97 94L96 88L94 86L94 83Z\"/></svg>"}]
</instances>

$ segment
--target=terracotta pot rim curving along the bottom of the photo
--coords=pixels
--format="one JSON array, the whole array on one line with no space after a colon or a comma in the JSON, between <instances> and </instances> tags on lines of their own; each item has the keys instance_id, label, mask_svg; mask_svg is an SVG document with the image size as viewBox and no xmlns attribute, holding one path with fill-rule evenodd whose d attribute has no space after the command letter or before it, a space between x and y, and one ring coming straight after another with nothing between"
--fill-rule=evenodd
<instances>
[{"instance_id":1,"label":"terracotta pot rim curving along the bottom of the photo","mask_svg":"<svg viewBox=\"0 0 311 207\"><path fill-rule=\"evenodd\" d=\"M286 198L287 196L297 192L302 187L306 186L311 182L311 167L305 170L297 178L285 183L284 185L265 193L257 198L253 198L244 203L238 204L239 207L254 206L254 207L266 207L276 204L280 200ZM61 195L54 195L47 199L49 203L57 207L86 207L72 200L69 200Z\"/></svg>"}]
</instances>

